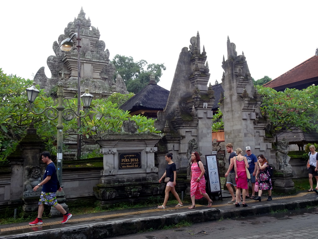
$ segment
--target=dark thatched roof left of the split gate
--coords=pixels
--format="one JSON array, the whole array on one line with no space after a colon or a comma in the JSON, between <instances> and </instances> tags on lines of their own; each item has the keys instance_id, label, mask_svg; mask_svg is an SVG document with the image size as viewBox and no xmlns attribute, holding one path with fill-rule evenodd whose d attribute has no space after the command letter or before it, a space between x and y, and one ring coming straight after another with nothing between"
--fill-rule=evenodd
<instances>
[{"instance_id":1,"label":"dark thatched roof left of the split gate","mask_svg":"<svg viewBox=\"0 0 318 239\"><path fill-rule=\"evenodd\" d=\"M170 91L157 85L155 81L150 80L145 88L135 94L119 108L131 112L141 109L163 110L166 107L169 92Z\"/></svg>"}]
</instances>

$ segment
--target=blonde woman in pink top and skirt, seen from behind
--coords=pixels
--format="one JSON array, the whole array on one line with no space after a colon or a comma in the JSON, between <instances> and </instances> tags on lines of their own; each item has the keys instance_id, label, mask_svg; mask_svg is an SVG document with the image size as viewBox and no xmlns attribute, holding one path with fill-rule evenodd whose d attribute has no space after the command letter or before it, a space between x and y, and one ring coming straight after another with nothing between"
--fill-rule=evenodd
<instances>
[{"instance_id":1,"label":"blonde woman in pink top and skirt, seen from behind","mask_svg":"<svg viewBox=\"0 0 318 239\"><path fill-rule=\"evenodd\" d=\"M246 175L246 168L249 168L247 158L245 156L242 156L242 149L237 148L236 149L236 155L233 158L234 161L234 170L235 170L235 182L236 182L236 202L235 206L239 205L239 199L241 198L241 189L242 189L242 196L243 196L243 206L247 206L245 203L245 196L246 196L246 190L248 189L248 183L247 183L247 175Z\"/></svg>"}]
</instances>

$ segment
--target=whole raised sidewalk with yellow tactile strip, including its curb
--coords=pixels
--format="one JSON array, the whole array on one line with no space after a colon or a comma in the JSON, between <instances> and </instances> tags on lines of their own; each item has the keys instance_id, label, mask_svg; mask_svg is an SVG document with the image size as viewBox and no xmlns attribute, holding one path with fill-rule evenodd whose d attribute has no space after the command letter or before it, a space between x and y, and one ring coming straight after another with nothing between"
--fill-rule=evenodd
<instances>
[{"instance_id":1,"label":"whole raised sidewalk with yellow tactile strip, including its curb","mask_svg":"<svg viewBox=\"0 0 318 239\"><path fill-rule=\"evenodd\" d=\"M226 196L226 193L222 193ZM194 209L188 206L159 209L157 205L147 208L134 208L103 213L73 215L65 224L62 217L45 219L42 225L29 226L28 222L0 225L0 238L107 238L137 233L150 228L162 228L179 221L192 223L217 221L221 218L265 214L282 209L317 206L318 195L315 192L298 192L290 196L273 196L272 201L247 199L247 207L235 207L228 204L229 198L214 201L211 208L197 204Z\"/></svg>"}]
</instances>

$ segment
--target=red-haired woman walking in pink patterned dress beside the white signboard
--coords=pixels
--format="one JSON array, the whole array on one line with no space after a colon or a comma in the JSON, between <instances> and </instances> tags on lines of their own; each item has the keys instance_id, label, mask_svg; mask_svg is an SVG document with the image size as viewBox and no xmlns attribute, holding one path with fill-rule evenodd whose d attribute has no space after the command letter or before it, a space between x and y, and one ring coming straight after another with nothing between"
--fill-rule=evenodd
<instances>
[{"instance_id":1,"label":"red-haired woman walking in pink patterned dress beside the white signboard","mask_svg":"<svg viewBox=\"0 0 318 239\"><path fill-rule=\"evenodd\" d=\"M191 153L191 184L190 184L190 196L192 206L188 207L193 209L196 207L195 199L206 198L208 200L208 206L212 206L212 200L209 195L205 192L205 178L204 178L204 166L200 159L198 152Z\"/></svg>"}]
</instances>

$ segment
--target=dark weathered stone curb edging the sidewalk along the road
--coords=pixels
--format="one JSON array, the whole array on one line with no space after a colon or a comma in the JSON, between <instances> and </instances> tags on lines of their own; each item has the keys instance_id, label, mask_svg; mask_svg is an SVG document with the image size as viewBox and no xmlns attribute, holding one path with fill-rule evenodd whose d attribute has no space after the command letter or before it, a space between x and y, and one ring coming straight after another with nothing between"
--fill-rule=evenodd
<instances>
[{"instance_id":1,"label":"dark weathered stone curb edging the sidewalk along the road","mask_svg":"<svg viewBox=\"0 0 318 239\"><path fill-rule=\"evenodd\" d=\"M225 218L238 216L249 216L257 214L270 213L277 210L293 210L295 208L304 208L306 206L317 206L317 199L305 199L285 203L271 204L253 204L253 206L216 209L204 208L199 211L186 211L171 213L167 211L166 215L141 217L138 219L118 219L111 222L95 222L88 225L69 226L66 228L49 229L41 232L29 232L0 238L12 239L42 239L42 238L68 238L68 239L102 239L114 236L128 235L145 231L149 229L163 228L181 221L192 223L204 221L217 221Z\"/></svg>"}]
</instances>

